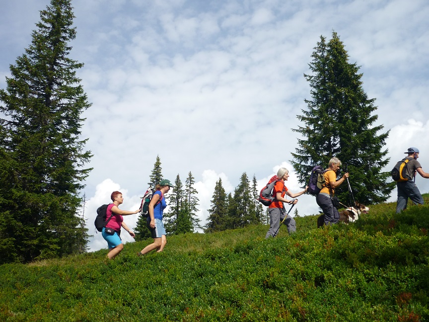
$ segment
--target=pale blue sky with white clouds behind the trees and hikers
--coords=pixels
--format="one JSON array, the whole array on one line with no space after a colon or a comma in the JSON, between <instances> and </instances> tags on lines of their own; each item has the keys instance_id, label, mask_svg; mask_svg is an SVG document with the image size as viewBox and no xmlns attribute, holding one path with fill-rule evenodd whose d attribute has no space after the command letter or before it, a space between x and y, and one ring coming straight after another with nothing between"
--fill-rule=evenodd
<instances>
[{"instance_id":1,"label":"pale blue sky with white clouds behind the trees and hikers","mask_svg":"<svg viewBox=\"0 0 429 322\"><path fill-rule=\"evenodd\" d=\"M48 0L1 0L0 86L9 64L31 43ZM86 179L85 217L110 193L136 209L159 155L162 173L182 182L189 171L205 222L214 184L232 192L243 172L264 185L279 166L292 175L296 115L311 99L303 74L320 36L336 31L360 66L363 88L376 98L378 121L390 130L391 161L420 149L429 172L427 0L75 0L77 37L70 57L92 106L82 137L94 154ZM416 183L428 192L429 180ZM351 182L353 187L353 182ZM391 200L396 200L394 191ZM311 196L296 206L315 214ZM137 215L125 217L133 227ZM101 234L90 249L106 248ZM131 238L124 235L124 241Z\"/></svg>"}]
</instances>

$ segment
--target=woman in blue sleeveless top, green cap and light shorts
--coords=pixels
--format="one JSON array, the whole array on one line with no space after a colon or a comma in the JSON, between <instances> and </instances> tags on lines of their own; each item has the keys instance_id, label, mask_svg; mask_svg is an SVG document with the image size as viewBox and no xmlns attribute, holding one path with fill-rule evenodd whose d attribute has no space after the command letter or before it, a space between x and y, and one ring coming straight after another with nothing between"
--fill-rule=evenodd
<instances>
[{"instance_id":1,"label":"woman in blue sleeveless top, green cap and light shorts","mask_svg":"<svg viewBox=\"0 0 429 322\"><path fill-rule=\"evenodd\" d=\"M156 191L153 193L152 199L149 203L149 216L147 217L147 228L150 230L153 242L147 245L138 252L138 255L144 255L149 251L156 249L156 252L160 252L164 249L167 243L167 238L164 223L162 222L162 215L167 204L165 202L164 194L166 194L170 187L174 187L170 180L164 179L156 185Z\"/></svg>"}]
</instances>

